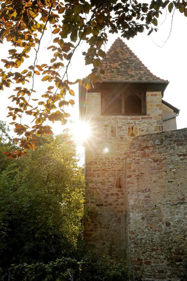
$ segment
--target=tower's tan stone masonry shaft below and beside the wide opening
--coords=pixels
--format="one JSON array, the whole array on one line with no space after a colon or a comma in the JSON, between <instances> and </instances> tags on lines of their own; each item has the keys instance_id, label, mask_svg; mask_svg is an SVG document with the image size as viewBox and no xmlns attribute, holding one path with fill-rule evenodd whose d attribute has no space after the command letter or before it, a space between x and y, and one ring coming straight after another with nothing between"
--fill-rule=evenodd
<instances>
[{"instance_id":1,"label":"tower's tan stone masonry shaft below and beside the wide opening","mask_svg":"<svg viewBox=\"0 0 187 281\"><path fill-rule=\"evenodd\" d=\"M99 255L127 258L126 152L135 136L162 131L161 92L146 93L146 116L101 116L100 93L87 93L85 121L92 130L85 144L85 238ZM113 133L111 133L113 131Z\"/></svg>"}]
</instances>

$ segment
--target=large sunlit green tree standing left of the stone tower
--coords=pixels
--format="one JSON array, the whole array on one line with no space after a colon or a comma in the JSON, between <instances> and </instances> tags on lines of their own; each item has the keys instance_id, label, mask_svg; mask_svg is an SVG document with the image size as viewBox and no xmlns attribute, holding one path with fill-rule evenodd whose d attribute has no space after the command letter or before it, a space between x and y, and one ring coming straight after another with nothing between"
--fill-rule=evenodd
<instances>
[{"instance_id":1,"label":"large sunlit green tree standing left of the stone tower","mask_svg":"<svg viewBox=\"0 0 187 281\"><path fill-rule=\"evenodd\" d=\"M0 175L0 267L54 261L79 250L84 175L60 135Z\"/></svg>"}]
</instances>

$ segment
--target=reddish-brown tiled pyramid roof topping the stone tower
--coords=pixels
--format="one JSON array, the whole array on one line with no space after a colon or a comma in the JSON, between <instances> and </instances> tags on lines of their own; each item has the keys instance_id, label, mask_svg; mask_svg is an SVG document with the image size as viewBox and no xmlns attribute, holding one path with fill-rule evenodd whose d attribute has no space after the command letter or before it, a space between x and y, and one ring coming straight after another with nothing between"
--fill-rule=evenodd
<instances>
[{"instance_id":1,"label":"reddish-brown tiled pyramid roof topping the stone tower","mask_svg":"<svg viewBox=\"0 0 187 281\"><path fill-rule=\"evenodd\" d=\"M100 68L102 81L164 81L151 73L129 47L118 37L103 58Z\"/></svg>"}]
</instances>

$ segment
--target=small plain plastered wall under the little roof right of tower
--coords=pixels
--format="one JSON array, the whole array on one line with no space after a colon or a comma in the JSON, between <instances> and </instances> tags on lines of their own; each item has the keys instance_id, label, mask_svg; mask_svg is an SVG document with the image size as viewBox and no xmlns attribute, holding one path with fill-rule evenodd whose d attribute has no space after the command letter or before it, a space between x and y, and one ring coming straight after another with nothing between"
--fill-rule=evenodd
<instances>
[{"instance_id":1,"label":"small plain plastered wall under the little roof right of tower","mask_svg":"<svg viewBox=\"0 0 187 281\"><path fill-rule=\"evenodd\" d=\"M171 116L175 116L176 113L174 113L174 111L166 106L165 104L162 103L162 119L171 117ZM176 123L176 117L163 121L163 131L171 131L171 130L176 130L177 129L177 123Z\"/></svg>"}]
</instances>

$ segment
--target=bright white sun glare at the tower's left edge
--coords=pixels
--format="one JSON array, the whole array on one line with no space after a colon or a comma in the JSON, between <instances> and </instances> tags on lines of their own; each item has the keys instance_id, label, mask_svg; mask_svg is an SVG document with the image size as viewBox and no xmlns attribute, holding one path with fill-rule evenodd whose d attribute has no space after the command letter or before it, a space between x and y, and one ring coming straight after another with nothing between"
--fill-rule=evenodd
<instances>
[{"instance_id":1,"label":"bright white sun glare at the tower's left edge","mask_svg":"<svg viewBox=\"0 0 187 281\"><path fill-rule=\"evenodd\" d=\"M91 135L89 123L76 122L72 128L72 135L76 141L86 141Z\"/></svg>"}]
</instances>

